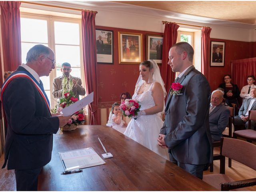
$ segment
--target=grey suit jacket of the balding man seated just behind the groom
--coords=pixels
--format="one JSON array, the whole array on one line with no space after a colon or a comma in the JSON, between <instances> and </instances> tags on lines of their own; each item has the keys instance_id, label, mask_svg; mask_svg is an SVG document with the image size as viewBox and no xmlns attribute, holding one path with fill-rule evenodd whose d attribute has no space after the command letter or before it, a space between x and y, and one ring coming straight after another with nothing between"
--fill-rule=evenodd
<instances>
[{"instance_id":1,"label":"grey suit jacket of the balding man seated just behind the groom","mask_svg":"<svg viewBox=\"0 0 256 192\"><path fill-rule=\"evenodd\" d=\"M209 114L210 132L214 141L218 141L222 137L222 132L228 125L229 116L230 110L223 104L216 106Z\"/></svg>"}]
</instances>

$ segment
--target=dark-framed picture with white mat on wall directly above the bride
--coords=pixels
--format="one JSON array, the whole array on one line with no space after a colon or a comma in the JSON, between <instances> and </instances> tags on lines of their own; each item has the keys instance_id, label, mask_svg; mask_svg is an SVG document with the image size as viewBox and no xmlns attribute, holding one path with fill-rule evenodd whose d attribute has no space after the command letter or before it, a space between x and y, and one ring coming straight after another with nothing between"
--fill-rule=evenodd
<instances>
[{"instance_id":1,"label":"dark-framed picture with white mat on wall directly above the bride","mask_svg":"<svg viewBox=\"0 0 256 192\"><path fill-rule=\"evenodd\" d=\"M162 63L163 36L146 35L146 59L154 59Z\"/></svg>"}]
</instances>

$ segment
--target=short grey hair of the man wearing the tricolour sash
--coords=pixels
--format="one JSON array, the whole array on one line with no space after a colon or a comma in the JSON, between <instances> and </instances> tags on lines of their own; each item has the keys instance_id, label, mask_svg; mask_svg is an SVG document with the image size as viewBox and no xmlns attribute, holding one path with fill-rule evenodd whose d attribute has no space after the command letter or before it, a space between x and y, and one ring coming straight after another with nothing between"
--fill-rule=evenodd
<instances>
[{"instance_id":1,"label":"short grey hair of the man wearing the tricolour sash","mask_svg":"<svg viewBox=\"0 0 256 192\"><path fill-rule=\"evenodd\" d=\"M34 47L30 48L27 53L26 62L32 62L38 59L39 55L49 56L51 49L44 46L44 45L35 45Z\"/></svg>"}]
</instances>

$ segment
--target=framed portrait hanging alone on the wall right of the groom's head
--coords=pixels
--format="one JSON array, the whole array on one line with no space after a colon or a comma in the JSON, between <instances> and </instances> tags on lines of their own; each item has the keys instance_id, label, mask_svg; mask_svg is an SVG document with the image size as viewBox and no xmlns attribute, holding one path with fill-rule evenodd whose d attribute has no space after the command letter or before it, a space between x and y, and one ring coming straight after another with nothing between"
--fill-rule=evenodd
<instances>
[{"instance_id":1,"label":"framed portrait hanging alone on the wall right of the groom's head","mask_svg":"<svg viewBox=\"0 0 256 192\"><path fill-rule=\"evenodd\" d=\"M210 66L224 67L225 42L211 41Z\"/></svg>"}]
</instances>

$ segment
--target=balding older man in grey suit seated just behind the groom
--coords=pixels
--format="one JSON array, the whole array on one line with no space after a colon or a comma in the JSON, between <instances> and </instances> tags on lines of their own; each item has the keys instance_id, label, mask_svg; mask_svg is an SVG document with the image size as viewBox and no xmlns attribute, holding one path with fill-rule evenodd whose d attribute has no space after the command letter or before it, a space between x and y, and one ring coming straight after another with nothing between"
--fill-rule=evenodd
<instances>
[{"instance_id":1,"label":"balding older man in grey suit seated just behind the groom","mask_svg":"<svg viewBox=\"0 0 256 192\"><path fill-rule=\"evenodd\" d=\"M222 132L228 124L230 110L222 104L224 93L221 90L212 92L211 104L209 110L210 132L212 142L220 140Z\"/></svg>"}]
</instances>

